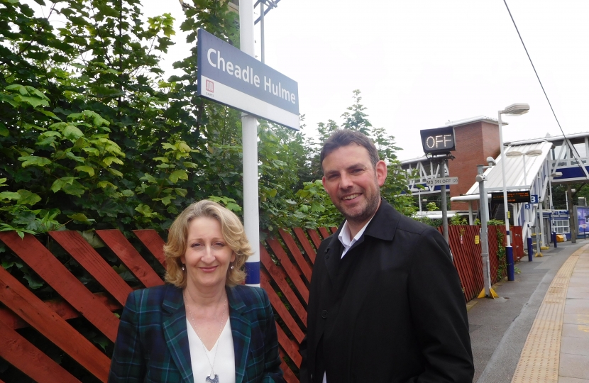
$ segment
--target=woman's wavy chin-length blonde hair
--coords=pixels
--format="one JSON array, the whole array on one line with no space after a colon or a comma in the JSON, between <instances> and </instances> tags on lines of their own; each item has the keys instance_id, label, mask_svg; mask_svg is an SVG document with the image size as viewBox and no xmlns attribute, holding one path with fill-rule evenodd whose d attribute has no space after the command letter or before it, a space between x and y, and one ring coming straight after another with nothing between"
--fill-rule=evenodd
<instances>
[{"instance_id":1,"label":"woman's wavy chin-length blonde hair","mask_svg":"<svg viewBox=\"0 0 589 383\"><path fill-rule=\"evenodd\" d=\"M227 270L225 284L229 287L242 284L246 279L246 272L242 270L243 264L253 254L246 237L246 231L244 231L243 225L235 213L207 199L194 202L194 204L188 206L172 223L167 236L167 243L164 245L165 281L174 284L176 287L186 287L186 271L182 271L180 257L185 255L186 252L188 226L194 218L200 217L213 218L221 223L223 238L236 254L235 261L231 263L233 269L229 267Z\"/></svg>"}]
</instances>

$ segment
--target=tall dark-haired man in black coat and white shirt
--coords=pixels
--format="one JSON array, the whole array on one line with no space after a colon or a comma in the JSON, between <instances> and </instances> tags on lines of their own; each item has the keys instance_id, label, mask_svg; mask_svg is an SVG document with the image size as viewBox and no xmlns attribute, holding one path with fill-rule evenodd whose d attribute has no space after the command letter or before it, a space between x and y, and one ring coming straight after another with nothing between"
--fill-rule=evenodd
<instances>
[{"instance_id":1,"label":"tall dark-haired man in black coat and white shirt","mask_svg":"<svg viewBox=\"0 0 589 383\"><path fill-rule=\"evenodd\" d=\"M466 304L444 238L380 198L387 165L365 135L331 135L321 166L346 221L317 250L301 382L472 382Z\"/></svg>"}]
</instances>

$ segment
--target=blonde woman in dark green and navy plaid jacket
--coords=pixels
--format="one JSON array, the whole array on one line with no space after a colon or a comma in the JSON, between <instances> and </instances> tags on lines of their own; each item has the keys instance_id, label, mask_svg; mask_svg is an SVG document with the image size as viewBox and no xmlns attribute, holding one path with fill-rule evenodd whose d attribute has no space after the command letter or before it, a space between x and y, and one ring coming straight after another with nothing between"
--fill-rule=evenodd
<instances>
[{"instance_id":1,"label":"blonde woman in dark green and navy plaid jacket","mask_svg":"<svg viewBox=\"0 0 589 383\"><path fill-rule=\"evenodd\" d=\"M268 296L241 285L252 250L239 218L196 202L164 251L167 284L127 298L109 382L284 382Z\"/></svg>"}]
</instances>

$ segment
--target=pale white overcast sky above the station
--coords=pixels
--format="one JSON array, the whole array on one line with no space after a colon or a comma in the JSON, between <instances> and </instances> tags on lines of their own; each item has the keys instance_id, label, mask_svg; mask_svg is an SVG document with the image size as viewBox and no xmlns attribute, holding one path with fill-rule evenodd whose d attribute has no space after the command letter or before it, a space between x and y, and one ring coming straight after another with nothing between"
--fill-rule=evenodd
<instances>
[{"instance_id":1,"label":"pale white overcast sky above the station","mask_svg":"<svg viewBox=\"0 0 589 383\"><path fill-rule=\"evenodd\" d=\"M163 57L172 74L190 48L180 3L141 4L146 16L177 19L176 45ZM564 133L589 131L589 1L507 5ZM395 136L402 160L423 155L419 130L496 119L514 103L530 111L504 117L505 141L561 134L501 0L281 0L265 17L265 63L298 82L307 135L319 122L341 123L359 89L368 119Z\"/></svg>"}]
</instances>

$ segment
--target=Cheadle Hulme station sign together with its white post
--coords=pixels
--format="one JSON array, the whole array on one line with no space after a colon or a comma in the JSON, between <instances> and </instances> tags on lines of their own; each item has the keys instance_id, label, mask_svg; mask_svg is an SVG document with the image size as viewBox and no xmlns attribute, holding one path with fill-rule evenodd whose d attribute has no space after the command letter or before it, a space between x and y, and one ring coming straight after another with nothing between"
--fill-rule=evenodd
<instances>
[{"instance_id":1,"label":"Cheadle Hulme station sign together with its white post","mask_svg":"<svg viewBox=\"0 0 589 383\"><path fill-rule=\"evenodd\" d=\"M243 146L243 226L253 255L246 262L246 284L260 286L258 206L258 121L300 128L299 89L294 80L254 57L253 0L239 0L241 50L198 30L197 95L241 110Z\"/></svg>"}]
</instances>

